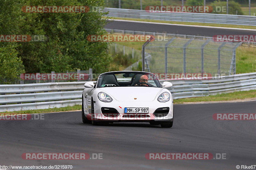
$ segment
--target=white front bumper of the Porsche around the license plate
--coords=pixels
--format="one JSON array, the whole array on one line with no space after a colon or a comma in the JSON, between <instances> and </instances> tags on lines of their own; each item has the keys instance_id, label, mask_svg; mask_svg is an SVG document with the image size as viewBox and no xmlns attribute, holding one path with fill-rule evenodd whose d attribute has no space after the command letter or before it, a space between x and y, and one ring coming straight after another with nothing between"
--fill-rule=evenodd
<instances>
[{"instance_id":1,"label":"white front bumper of the Porsche around the license plate","mask_svg":"<svg viewBox=\"0 0 256 170\"><path fill-rule=\"evenodd\" d=\"M165 124L173 121L173 101L167 102L158 101L112 101L102 102L100 100L94 101L94 115L92 119L95 121L108 121L108 122L152 122L154 124ZM101 108L115 108L117 113L102 113ZM125 107L148 107L148 114L140 113L124 113ZM164 114L154 114L156 109L162 107L169 107L169 112Z\"/></svg>"}]
</instances>

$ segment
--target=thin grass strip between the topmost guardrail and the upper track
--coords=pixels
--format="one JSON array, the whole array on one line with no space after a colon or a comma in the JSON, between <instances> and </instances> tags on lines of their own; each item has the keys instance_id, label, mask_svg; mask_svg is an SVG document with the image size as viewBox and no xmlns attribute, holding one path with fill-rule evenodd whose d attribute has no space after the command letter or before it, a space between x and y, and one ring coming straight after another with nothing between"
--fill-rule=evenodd
<instances>
[{"instance_id":1,"label":"thin grass strip between the topmost guardrail and the upper track","mask_svg":"<svg viewBox=\"0 0 256 170\"><path fill-rule=\"evenodd\" d=\"M216 27L229 27L229 28L256 29L256 26L240 26L240 25L211 24L211 23L197 23L197 22L176 22L176 21L162 21L162 20L139 19L139 18L119 18L119 17L102 17L102 18L123 19L123 20L131 20L131 21L146 21L146 22L157 22L157 23L169 23L169 24L184 24L184 25L195 25L195 26L216 26Z\"/></svg>"}]
</instances>

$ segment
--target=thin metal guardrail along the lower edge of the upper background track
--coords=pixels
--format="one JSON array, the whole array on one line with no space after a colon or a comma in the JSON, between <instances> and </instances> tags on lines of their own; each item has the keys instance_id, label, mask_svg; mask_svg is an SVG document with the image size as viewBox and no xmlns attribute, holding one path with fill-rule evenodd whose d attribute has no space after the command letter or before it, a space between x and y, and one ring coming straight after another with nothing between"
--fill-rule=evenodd
<instances>
[{"instance_id":1,"label":"thin metal guardrail along the lower edge of the upper background track","mask_svg":"<svg viewBox=\"0 0 256 170\"><path fill-rule=\"evenodd\" d=\"M132 31L132 30L120 30L120 29L109 29L105 28L109 33L122 33L122 34L138 34L138 35L166 35L167 37L179 37L185 39L194 38L196 40L212 40L212 37L200 36L200 35L187 35L187 34L174 34L174 33L157 33L157 32L148 32L148 31ZM243 46L256 47L256 42L242 42Z\"/></svg>"}]
</instances>

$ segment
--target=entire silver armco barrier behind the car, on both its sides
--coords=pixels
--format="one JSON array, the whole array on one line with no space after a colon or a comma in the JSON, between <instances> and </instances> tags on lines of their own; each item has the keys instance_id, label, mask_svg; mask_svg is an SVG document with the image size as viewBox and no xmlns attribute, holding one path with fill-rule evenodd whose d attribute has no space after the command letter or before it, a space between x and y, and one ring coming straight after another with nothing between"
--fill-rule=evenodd
<instances>
[{"instance_id":1,"label":"entire silver armco barrier behind the car, on both its sides","mask_svg":"<svg viewBox=\"0 0 256 170\"><path fill-rule=\"evenodd\" d=\"M160 80L172 82L174 99L256 89L256 72L213 77L209 80ZM82 103L85 82L0 85L0 112L66 107ZM96 81L94 81L96 83Z\"/></svg>"}]
</instances>

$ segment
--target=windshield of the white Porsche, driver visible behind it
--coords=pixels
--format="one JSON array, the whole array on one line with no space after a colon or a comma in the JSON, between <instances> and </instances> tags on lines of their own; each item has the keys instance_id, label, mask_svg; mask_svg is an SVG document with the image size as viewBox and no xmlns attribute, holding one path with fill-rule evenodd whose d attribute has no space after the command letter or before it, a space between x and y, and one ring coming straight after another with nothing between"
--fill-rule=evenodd
<instances>
[{"instance_id":1,"label":"windshield of the white Porsche, driver visible behind it","mask_svg":"<svg viewBox=\"0 0 256 170\"><path fill-rule=\"evenodd\" d=\"M98 78L99 87L160 87L156 75L142 71L113 71L103 73Z\"/></svg>"}]
</instances>

